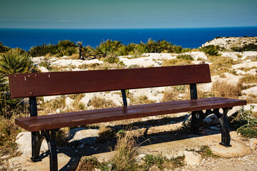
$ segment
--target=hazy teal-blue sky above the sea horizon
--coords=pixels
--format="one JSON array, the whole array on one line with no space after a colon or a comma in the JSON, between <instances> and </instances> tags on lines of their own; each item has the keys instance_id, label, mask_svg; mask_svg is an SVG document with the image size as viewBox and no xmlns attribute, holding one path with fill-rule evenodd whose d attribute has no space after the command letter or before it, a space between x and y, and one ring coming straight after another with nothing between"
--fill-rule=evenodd
<instances>
[{"instance_id":1,"label":"hazy teal-blue sky above the sea horizon","mask_svg":"<svg viewBox=\"0 0 257 171\"><path fill-rule=\"evenodd\" d=\"M257 26L257 0L0 0L0 28Z\"/></svg>"}]
</instances>

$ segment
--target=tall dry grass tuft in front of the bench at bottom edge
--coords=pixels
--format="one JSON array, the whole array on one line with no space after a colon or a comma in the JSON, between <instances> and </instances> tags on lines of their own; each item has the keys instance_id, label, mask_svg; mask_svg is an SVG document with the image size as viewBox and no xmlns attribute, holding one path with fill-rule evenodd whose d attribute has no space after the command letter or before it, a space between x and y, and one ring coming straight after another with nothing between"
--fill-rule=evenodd
<instances>
[{"instance_id":1,"label":"tall dry grass tuft in front of the bench at bottom edge","mask_svg":"<svg viewBox=\"0 0 257 171\"><path fill-rule=\"evenodd\" d=\"M113 158L116 170L133 170L135 167L136 140L129 133L120 135L115 146L116 153Z\"/></svg>"}]
</instances>

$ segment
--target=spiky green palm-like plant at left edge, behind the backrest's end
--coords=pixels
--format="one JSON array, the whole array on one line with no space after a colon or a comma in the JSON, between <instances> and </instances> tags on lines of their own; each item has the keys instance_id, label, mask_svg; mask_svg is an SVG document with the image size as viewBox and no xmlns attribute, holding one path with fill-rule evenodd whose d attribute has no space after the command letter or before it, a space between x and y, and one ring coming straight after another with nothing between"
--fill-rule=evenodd
<instances>
[{"instance_id":1,"label":"spiky green palm-like plant at left edge, behind the backrest's end","mask_svg":"<svg viewBox=\"0 0 257 171\"><path fill-rule=\"evenodd\" d=\"M0 57L0 73L27 73L32 67L32 61L28 55L19 51L9 51Z\"/></svg>"}]
</instances>

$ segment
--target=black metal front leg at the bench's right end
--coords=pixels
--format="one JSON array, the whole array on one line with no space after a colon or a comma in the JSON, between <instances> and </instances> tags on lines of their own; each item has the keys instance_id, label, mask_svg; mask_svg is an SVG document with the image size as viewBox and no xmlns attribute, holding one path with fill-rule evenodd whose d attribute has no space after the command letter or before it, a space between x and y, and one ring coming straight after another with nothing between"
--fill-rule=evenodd
<instances>
[{"instance_id":1,"label":"black metal front leg at the bench's right end","mask_svg":"<svg viewBox=\"0 0 257 171\"><path fill-rule=\"evenodd\" d=\"M221 143L220 145L223 145L225 147L231 147L231 136L229 135L229 128L228 128L228 117L227 113L228 110L231 110L231 108L222 108L223 109L223 115L221 118L218 118L218 120L221 123Z\"/></svg>"}]
</instances>

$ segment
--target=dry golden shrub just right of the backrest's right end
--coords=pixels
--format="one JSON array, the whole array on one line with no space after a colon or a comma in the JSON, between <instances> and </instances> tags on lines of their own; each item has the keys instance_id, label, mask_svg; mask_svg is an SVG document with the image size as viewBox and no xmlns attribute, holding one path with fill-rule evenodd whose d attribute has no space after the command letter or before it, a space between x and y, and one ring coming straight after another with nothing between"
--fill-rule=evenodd
<instances>
[{"instance_id":1,"label":"dry golden shrub just right of the backrest's right end","mask_svg":"<svg viewBox=\"0 0 257 171\"><path fill-rule=\"evenodd\" d=\"M233 86L226 81L215 81L211 91L215 97L221 98L238 98L241 95L242 86L240 83Z\"/></svg>"}]
</instances>

